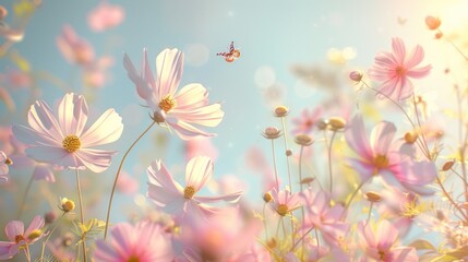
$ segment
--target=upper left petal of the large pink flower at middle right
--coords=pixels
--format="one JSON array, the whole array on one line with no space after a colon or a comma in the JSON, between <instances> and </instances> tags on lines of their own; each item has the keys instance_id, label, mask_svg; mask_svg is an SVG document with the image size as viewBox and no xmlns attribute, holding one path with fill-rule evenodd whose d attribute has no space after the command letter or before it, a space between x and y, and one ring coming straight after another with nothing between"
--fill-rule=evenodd
<instances>
[{"instance_id":1,"label":"upper left petal of the large pink flower at middle right","mask_svg":"<svg viewBox=\"0 0 468 262\"><path fill-rule=\"evenodd\" d=\"M360 115L356 115L345 131L346 141L352 151L364 159L372 159L373 154L369 144L364 122Z\"/></svg>"}]
</instances>

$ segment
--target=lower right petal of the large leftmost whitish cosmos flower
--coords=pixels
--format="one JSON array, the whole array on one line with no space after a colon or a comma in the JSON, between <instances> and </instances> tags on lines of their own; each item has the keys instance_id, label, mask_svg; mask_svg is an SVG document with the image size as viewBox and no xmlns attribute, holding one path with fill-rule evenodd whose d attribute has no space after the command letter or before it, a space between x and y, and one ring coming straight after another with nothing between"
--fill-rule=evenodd
<instances>
[{"instance_id":1,"label":"lower right petal of the large leftmost whitish cosmos flower","mask_svg":"<svg viewBox=\"0 0 468 262\"><path fill-rule=\"evenodd\" d=\"M116 152L82 148L75 152L79 166L85 166L93 172L103 172L110 166L110 160Z\"/></svg>"}]
</instances>

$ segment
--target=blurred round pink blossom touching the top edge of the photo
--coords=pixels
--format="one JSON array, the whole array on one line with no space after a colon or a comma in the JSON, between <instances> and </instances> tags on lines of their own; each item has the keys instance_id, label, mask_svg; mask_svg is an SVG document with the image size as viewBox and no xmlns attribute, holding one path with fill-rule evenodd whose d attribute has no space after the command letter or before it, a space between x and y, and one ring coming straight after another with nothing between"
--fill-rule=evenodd
<instances>
[{"instance_id":1,"label":"blurred round pink blossom touching the top edge of the photo","mask_svg":"<svg viewBox=\"0 0 468 262\"><path fill-rule=\"evenodd\" d=\"M103 32L122 23L125 12L122 7L101 2L87 14L87 24L95 32Z\"/></svg>"}]
</instances>

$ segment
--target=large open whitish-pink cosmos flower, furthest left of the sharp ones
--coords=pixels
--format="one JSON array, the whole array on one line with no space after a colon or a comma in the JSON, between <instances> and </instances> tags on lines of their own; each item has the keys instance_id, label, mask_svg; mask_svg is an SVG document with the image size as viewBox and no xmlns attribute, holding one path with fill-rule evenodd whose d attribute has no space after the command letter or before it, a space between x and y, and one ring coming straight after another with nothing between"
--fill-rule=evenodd
<instances>
[{"instance_id":1,"label":"large open whitish-pink cosmos flower, furthest left of the sharp ones","mask_svg":"<svg viewBox=\"0 0 468 262\"><path fill-rule=\"evenodd\" d=\"M87 105L83 96L67 94L53 115L44 100L31 106L29 127L14 126L15 138L31 147L26 154L38 162L64 168L88 168L94 172L106 170L116 152L92 147L111 143L122 133L122 118L110 108L96 122L85 129Z\"/></svg>"}]
</instances>

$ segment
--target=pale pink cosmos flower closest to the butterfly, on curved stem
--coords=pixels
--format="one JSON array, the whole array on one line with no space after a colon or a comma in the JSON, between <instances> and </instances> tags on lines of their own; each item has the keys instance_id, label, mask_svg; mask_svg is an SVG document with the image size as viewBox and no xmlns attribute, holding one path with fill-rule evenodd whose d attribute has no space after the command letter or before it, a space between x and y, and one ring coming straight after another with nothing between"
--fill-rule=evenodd
<instances>
[{"instance_id":1,"label":"pale pink cosmos flower closest to the butterfly, on curved stem","mask_svg":"<svg viewBox=\"0 0 468 262\"><path fill-rule=\"evenodd\" d=\"M221 105L208 105L208 92L201 84L188 84L176 93L183 71L183 53L178 49L163 50L156 58L156 80L147 61L146 49L143 57L140 75L127 53L123 67L140 97L153 111L153 119L166 122L183 140L197 135L213 136L213 133L206 133L196 126L218 126L224 117Z\"/></svg>"}]
</instances>

